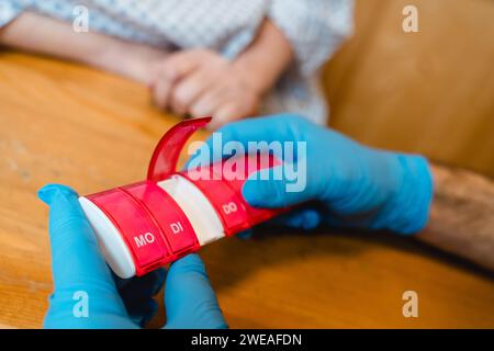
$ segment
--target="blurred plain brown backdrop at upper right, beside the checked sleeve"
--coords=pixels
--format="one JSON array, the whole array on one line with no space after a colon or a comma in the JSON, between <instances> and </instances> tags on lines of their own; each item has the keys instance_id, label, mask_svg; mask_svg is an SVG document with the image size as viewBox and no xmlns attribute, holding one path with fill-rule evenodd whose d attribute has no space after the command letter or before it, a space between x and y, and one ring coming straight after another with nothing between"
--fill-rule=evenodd
<instances>
[{"instance_id":1,"label":"blurred plain brown backdrop at upper right, beside the checked sleeve","mask_svg":"<svg viewBox=\"0 0 494 351\"><path fill-rule=\"evenodd\" d=\"M407 4L418 33L402 31ZM494 177L494 1L360 0L325 68L330 124L362 143Z\"/></svg>"}]
</instances>

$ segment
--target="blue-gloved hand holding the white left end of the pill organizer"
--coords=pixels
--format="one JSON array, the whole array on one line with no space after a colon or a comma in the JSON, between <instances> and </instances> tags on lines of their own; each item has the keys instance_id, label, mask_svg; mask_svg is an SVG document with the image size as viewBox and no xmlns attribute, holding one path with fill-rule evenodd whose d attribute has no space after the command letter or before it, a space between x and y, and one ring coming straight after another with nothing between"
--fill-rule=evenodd
<instances>
[{"instance_id":1,"label":"blue-gloved hand holding the white left end of the pill organizer","mask_svg":"<svg viewBox=\"0 0 494 351\"><path fill-rule=\"evenodd\" d=\"M50 206L55 290L46 328L142 327L157 310L153 296L165 279L166 328L227 327L199 256L172 263L168 274L160 269L121 280L106 265L77 194L64 185L47 185L38 196Z\"/></svg>"}]
</instances>

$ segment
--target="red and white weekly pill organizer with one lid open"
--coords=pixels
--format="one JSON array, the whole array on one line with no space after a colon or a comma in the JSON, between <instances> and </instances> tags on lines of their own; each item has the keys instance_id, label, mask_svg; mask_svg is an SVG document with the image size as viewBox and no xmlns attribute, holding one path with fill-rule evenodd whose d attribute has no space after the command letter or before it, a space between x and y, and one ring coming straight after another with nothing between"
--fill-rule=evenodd
<instances>
[{"instance_id":1,"label":"red and white weekly pill organizer with one lid open","mask_svg":"<svg viewBox=\"0 0 494 351\"><path fill-rule=\"evenodd\" d=\"M176 170L189 137L210 121L188 120L168 131L155 148L146 180L79 197L116 275L146 274L284 211L252 207L242 194L249 174L281 165L272 155L235 156L243 174L228 174L225 160Z\"/></svg>"}]
</instances>

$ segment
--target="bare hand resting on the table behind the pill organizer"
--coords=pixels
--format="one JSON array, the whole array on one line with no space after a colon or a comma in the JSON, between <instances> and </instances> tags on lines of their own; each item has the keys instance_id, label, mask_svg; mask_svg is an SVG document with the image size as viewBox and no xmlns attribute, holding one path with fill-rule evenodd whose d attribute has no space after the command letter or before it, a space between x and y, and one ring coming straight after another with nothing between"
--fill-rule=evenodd
<instances>
[{"instance_id":1,"label":"bare hand resting on the table behind the pill organizer","mask_svg":"<svg viewBox=\"0 0 494 351\"><path fill-rule=\"evenodd\" d=\"M180 115L212 115L216 128L257 113L260 93L247 75L213 50L178 52L155 68L153 99L160 109Z\"/></svg>"}]
</instances>

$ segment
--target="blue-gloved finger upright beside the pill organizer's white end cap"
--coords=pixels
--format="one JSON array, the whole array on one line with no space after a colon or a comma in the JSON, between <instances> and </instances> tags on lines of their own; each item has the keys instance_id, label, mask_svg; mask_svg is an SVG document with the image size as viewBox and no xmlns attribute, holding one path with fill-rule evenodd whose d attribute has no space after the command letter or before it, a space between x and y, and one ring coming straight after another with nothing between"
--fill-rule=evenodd
<instances>
[{"instance_id":1,"label":"blue-gloved finger upright beside the pill organizer's white end cap","mask_svg":"<svg viewBox=\"0 0 494 351\"><path fill-rule=\"evenodd\" d=\"M88 282L116 293L98 241L74 190L49 184L38 192L49 205L49 237L55 290Z\"/></svg>"}]
</instances>

